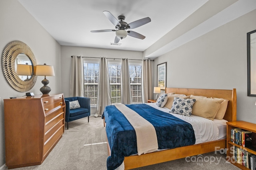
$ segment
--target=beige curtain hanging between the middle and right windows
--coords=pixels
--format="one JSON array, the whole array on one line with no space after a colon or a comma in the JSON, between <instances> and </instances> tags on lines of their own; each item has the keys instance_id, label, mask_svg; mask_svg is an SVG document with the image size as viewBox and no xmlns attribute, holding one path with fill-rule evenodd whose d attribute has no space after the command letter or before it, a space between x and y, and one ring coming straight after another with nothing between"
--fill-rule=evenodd
<instances>
[{"instance_id":1,"label":"beige curtain hanging between the middle and right windows","mask_svg":"<svg viewBox=\"0 0 256 170\"><path fill-rule=\"evenodd\" d=\"M132 104L128 59L122 59L121 63L121 102L122 104Z\"/></svg>"}]
</instances>

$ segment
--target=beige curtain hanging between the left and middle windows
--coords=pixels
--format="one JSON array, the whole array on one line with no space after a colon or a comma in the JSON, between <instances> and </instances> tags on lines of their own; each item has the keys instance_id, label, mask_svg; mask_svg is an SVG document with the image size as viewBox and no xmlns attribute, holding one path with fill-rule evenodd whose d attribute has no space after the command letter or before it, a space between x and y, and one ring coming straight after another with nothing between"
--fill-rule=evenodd
<instances>
[{"instance_id":1,"label":"beige curtain hanging between the left and middle windows","mask_svg":"<svg viewBox=\"0 0 256 170\"><path fill-rule=\"evenodd\" d=\"M110 82L108 74L108 61L106 57L100 58L97 111L95 117L102 116L106 106L111 105Z\"/></svg>"}]
</instances>

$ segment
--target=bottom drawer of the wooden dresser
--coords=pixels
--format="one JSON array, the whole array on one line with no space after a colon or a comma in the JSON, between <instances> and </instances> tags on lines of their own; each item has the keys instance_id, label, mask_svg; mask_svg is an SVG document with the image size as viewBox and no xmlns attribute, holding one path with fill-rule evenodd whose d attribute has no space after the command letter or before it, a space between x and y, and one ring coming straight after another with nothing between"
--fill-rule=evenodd
<instances>
[{"instance_id":1,"label":"bottom drawer of the wooden dresser","mask_svg":"<svg viewBox=\"0 0 256 170\"><path fill-rule=\"evenodd\" d=\"M56 141L62 136L64 133L64 125L62 125L49 139L44 143L44 154L43 156L50 150Z\"/></svg>"}]
</instances>

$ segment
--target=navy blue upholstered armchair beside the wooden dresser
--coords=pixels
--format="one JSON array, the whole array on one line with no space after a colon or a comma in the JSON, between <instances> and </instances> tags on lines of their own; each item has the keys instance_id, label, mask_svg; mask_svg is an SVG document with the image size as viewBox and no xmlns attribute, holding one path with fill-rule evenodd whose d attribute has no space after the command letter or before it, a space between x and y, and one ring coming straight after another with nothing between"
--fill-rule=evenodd
<instances>
[{"instance_id":1,"label":"navy blue upholstered armchair beside the wooden dresser","mask_svg":"<svg viewBox=\"0 0 256 170\"><path fill-rule=\"evenodd\" d=\"M75 100L78 100L80 107L70 110L69 102L72 102ZM66 103L65 121L67 122L67 129L68 129L68 122L73 120L81 119L83 117L88 116L88 122L89 122L89 117L91 115L90 98L85 98L85 97L65 98L65 103Z\"/></svg>"}]
</instances>

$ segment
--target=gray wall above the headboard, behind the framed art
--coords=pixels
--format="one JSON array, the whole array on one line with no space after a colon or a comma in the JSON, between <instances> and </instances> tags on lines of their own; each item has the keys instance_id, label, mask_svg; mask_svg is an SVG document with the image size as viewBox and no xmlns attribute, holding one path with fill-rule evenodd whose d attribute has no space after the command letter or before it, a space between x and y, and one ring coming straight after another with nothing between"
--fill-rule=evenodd
<instances>
[{"instance_id":1,"label":"gray wall above the headboard, behind the framed art","mask_svg":"<svg viewBox=\"0 0 256 170\"><path fill-rule=\"evenodd\" d=\"M256 123L256 98L247 96L246 46L255 16L256 10L156 58L155 68L167 62L167 87L236 88L237 120Z\"/></svg>"}]
</instances>

